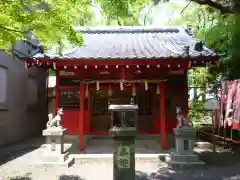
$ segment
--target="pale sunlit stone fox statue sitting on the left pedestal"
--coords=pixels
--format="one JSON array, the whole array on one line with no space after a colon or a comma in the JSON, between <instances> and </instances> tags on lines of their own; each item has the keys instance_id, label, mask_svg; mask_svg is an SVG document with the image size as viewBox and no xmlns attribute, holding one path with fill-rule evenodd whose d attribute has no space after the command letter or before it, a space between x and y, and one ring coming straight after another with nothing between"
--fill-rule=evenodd
<instances>
[{"instance_id":1,"label":"pale sunlit stone fox statue sitting on the left pedestal","mask_svg":"<svg viewBox=\"0 0 240 180\"><path fill-rule=\"evenodd\" d=\"M62 128L62 115L63 108L58 109L57 115L53 118L53 115L50 113L48 115L47 128Z\"/></svg>"}]
</instances>

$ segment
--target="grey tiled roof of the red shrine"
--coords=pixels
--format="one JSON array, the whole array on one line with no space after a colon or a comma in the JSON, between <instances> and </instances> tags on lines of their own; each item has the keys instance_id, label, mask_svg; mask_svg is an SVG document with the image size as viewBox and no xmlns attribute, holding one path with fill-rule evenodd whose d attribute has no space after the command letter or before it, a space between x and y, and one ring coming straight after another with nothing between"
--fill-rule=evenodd
<instances>
[{"instance_id":1,"label":"grey tiled roof of the red shrine","mask_svg":"<svg viewBox=\"0 0 240 180\"><path fill-rule=\"evenodd\" d=\"M166 59L216 56L203 47L195 50L196 40L185 28L78 28L83 33L84 45L70 48L58 58L69 59ZM186 49L189 50L186 52ZM57 57L54 51L47 53ZM38 56L39 57L39 56Z\"/></svg>"}]
</instances>

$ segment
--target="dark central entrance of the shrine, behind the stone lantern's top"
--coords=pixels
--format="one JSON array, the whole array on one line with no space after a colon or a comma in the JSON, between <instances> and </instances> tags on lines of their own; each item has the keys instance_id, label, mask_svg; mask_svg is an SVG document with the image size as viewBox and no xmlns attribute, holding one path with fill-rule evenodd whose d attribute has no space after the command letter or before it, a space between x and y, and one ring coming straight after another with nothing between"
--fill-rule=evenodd
<instances>
[{"instance_id":1,"label":"dark central entrance of the shrine, behind the stone lantern's top","mask_svg":"<svg viewBox=\"0 0 240 180\"><path fill-rule=\"evenodd\" d=\"M109 104L138 104L138 132L153 132L151 91L138 91L132 95L131 91L114 91L111 95L108 91L94 91L92 95L92 115L90 130L93 134L108 134L111 128Z\"/></svg>"}]
</instances>

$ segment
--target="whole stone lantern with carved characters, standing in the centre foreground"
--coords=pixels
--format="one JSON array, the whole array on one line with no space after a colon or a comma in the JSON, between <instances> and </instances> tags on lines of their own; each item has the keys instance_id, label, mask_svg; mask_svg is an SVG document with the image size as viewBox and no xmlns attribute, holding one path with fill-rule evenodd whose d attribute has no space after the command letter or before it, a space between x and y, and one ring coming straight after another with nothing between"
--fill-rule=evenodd
<instances>
[{"instance_id":1,"label":"whole stone lantern with carved characters, standing in the centre foreground","mask_svg":"<svg viewBox=\"0 0 240 180\"><path fill-rule=\"evenodd\" d=\"M113 139L113 179L135 180L137 105L110 105Z\"/></svg>"}]
</instances>

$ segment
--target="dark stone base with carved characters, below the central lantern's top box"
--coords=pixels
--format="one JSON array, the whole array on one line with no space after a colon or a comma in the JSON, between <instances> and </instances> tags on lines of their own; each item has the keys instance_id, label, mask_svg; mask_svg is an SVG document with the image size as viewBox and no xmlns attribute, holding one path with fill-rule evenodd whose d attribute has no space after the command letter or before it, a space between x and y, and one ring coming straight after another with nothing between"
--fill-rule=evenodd
<instances>
[{"instance_id":1,"label":"dark stone base with carved characters, below the central lantern's top box","mask_svg":"<svg viewBox=\"0 0 240 180\"><path fill-rule=\"evenodd\" d=\"M113 138L113 179L135 180L135 136L134 127L113 127L109 131Z\"/></svg>"}]
</instances>

